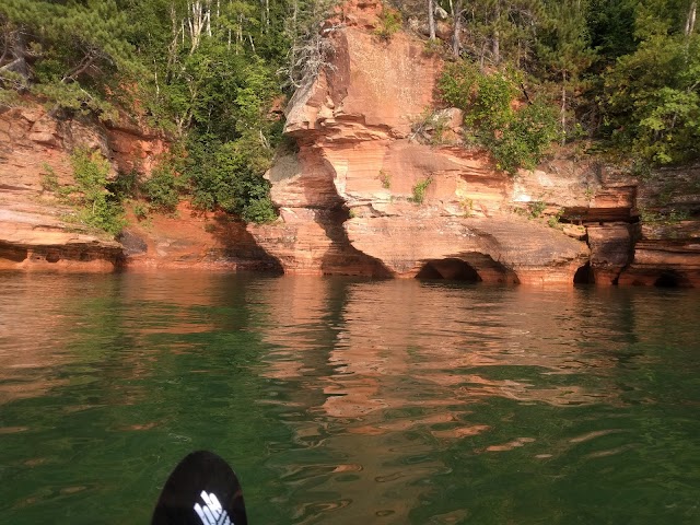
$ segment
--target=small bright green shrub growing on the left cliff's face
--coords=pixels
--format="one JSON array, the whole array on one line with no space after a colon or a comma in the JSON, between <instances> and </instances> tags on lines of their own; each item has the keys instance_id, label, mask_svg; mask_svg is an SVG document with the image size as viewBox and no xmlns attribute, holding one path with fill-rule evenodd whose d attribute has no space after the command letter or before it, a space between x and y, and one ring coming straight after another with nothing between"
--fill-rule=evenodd
<instances>
[{"instance_id":1,"label":"small bright green shrub growing on the left cliff's face","mask_svg":"<svg viewBox=\"0 0 700 525\"><path fill-rule=\"evenodd\" d=\"M106 189L109 162L98 152L84 148L71 155L73 177L80 196L74 200L78 219L83 224L117 235L126 225L121 205Z\"/></svg>"}]
</instances>

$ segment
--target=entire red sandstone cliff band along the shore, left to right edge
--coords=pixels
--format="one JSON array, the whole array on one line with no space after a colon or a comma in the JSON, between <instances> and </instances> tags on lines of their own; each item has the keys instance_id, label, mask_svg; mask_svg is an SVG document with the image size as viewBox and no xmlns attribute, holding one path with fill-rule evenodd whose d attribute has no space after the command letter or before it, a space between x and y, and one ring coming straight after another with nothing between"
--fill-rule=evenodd
<instances>
[{"instance_id":1,"label":"entire red sandstone cliff band along the shore, left to right edge","mask_svg":"<svg viewBox=\"0 0 700 525\"><path fill-rule=\"evenodd\" d=\"M120 242L67 222L42 187L72 183L70 150L100 149L148 174L166 149L127 124L0 112L0 269L205 267L571 285L700 285L700 167L646 180L575 151L510 176L458 144L463 115L439 112L443 67L423 40L374 35L381 4L349 2L328 25L330 67L287 108L295 148L268 173L280 219L248 225L183 202ZM678 213L678 210L681 212ZM640 214L644 219L640 223ZM696 220L692 220L693 215Z\"/></svg>"}]
</instances>

